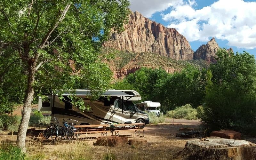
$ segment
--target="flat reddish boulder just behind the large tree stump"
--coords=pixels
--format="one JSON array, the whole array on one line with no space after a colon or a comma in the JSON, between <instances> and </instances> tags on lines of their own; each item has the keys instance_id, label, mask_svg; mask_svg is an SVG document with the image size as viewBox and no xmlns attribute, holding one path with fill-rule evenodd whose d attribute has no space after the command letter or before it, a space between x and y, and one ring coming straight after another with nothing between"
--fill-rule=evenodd
<instances>
[{"instance_id":1,"label":"flat reddish boulder just behind the large tree stump","mask_svg":"<svg viewBox=\"0 0 256 160\"><path fill-rule=\"evenodd\" d=\"M241 139L241 133L232 131L232 130L214 131L214 132L211 132L211 136L227 138L227 139L234 139L234 140Z\"/></svg>"}]
</instances>

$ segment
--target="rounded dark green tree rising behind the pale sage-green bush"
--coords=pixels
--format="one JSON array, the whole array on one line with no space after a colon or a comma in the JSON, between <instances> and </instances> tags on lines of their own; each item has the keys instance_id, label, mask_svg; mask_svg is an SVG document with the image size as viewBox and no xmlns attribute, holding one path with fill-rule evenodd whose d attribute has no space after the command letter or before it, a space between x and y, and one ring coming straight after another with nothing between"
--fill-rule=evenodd
<instances>
[{"instance_id":1,"label":"rounded dark green tree rising behind the pale sage-green bush","mask_svg":"<svg viewBox=\"0 0 256 160\"><path fill-rule=\"evenodd\" d=\"M187 65L181 72L167 76L159 86L159 100L167 110L191 104L197 107L204 97L206 70Z\"/></svg>"}]
</instances>

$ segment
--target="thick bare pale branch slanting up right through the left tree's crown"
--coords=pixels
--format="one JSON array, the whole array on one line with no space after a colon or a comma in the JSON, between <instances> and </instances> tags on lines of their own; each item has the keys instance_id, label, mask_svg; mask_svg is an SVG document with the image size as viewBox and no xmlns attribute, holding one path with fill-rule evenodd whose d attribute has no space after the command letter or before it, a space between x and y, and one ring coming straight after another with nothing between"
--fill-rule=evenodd
<instances>
[{"instance_id":1,"label":"thick bare pale branch slanting up right through the left tree's crown","mask_svg":"<svg viewBox=\"0 0 256 160\"><path fill-rule=\"evenodd\" d=\"M62 14L61 14L61 16L60 16L60 19L55 23L55 25L54 25L52 28L49 29L49 31L48 31L47 34L45 35L43 41L42 41L41 44L39 45L39 48L40 48L40 49L43 49L43 48L45 47L45 43L46 43L46 42L48 41L48 39L50 38L50 36L51 36L53 30L54 30L55 28L57 28L58 25L59 25L59 23L65 18L66 13L68 12L69 7L70 7L70 4L67 4L66 7L65 7L65 9L64 9L64 11L62 12Z\"/></svg>"}]
</instances>

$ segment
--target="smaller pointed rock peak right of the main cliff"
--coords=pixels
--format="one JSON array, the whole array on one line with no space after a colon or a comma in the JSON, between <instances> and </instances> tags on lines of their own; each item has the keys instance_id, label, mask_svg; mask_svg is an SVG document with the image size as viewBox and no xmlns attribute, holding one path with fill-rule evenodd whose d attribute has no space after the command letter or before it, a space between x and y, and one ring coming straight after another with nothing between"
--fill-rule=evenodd
<instances>
[{"instance_id":1,"label":"smaller pointed rock peak right of the main cliff","mask_svg":"<svg viewBox=\"0 0 256 160\"><path fill-rule=\"evenodd\" d=\"M201 45L194 54L194 59L203 59L208 62L216 62L214 59L219 45L216 43L215 38L212 38L206 45Z\"/></svg>"}]
</instances>

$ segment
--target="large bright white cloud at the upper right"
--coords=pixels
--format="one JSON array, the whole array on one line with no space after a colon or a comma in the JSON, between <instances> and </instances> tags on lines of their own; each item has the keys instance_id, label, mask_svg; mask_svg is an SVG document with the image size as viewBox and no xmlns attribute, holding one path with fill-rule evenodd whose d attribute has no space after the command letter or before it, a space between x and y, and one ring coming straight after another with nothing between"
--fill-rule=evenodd
<instances>
[{"instance_id":1,"label":"large bright white cloud at the upper right","mask_svg":"<svg viewBox=\"0 0 256 160\"><path fill-rule=\"evenodd\" d=\"M256 2L219 0L195 10L195 2L179 3L163 15L168 27L176 28L188 41L227 40L238 48L256 48Z\"/></svg>"}]
</instances>

